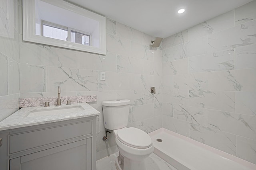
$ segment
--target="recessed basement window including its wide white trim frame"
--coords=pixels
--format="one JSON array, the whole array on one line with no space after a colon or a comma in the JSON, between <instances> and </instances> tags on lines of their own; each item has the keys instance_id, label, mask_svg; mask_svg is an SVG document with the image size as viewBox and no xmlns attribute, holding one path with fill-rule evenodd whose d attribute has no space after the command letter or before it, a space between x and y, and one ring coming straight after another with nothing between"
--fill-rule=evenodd
<instances>
[{"instance_id":1,"label":"recessed basement window including its wide white trim frame","mask_svg":"<svg viewBox=\"0 0 256 170\"><path fill-rule=\"evenodd\" d=\"M23 40L106 55L106 18L64 0L24 0Z\"/></svg>"}]
</instances>

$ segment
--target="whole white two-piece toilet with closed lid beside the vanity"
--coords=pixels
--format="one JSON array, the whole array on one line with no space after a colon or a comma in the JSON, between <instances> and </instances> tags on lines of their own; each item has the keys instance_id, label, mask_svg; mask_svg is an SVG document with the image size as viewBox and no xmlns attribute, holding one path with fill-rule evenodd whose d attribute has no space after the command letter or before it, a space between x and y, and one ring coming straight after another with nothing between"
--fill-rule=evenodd
<instances>
[{"instance_id":1,"label":"whole white two-piece toilet with closed lid beside the vanity","mask_svg":"<svg viewBox=\"0 0 256 170\"><path fill-rule=\"evenodd\" d=\"M104 126L108 130L114 130L119 149L117 170L146 170L144 160L154 151L154 146L146 132L135 127L126 127L129 106L130 100L102 102Z\"/></svg>"}]
</instances>

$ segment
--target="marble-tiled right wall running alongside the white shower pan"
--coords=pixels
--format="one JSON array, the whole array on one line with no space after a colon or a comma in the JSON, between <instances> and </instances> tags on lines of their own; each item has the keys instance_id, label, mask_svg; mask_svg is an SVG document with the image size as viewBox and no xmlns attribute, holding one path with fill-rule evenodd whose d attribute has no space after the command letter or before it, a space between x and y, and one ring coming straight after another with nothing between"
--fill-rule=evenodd
<instances>
[{"instance_id":1,"label":"marble-tiled right wall running alongside the white shower pan","mask_svg":"<svg viewBox=\"0 0 256 170\"><path fill-rule=\"evenodd\" d=\"M163 127L256 164L256 0L162 42Z\"/></svg>"}]
</instances>

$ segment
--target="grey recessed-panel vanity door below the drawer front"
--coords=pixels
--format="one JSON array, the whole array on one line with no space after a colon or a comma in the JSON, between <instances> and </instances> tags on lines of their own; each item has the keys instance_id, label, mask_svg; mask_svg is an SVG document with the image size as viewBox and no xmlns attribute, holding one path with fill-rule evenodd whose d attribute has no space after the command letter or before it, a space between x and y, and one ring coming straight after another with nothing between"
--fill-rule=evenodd
<instances>
[{"instance_id":1,"label":"grey recessed-panel vanity door below the drawer front","mask_svg":"<svg viewBox=\"0 0 256 170\"><path fill-rule=\"evenodd\" d=\"M92 170L92 138L12 159L10 170Z\"/></svg>"}]
</instances>

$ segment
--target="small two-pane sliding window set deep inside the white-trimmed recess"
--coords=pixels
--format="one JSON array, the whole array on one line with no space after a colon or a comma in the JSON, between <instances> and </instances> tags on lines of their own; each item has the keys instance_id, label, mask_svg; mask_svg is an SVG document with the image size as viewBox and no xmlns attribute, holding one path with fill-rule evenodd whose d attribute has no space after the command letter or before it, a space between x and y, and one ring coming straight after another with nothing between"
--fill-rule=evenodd
<instances>
[{"instance_id":1,"label":"small two-pane sliding window set deep inside the white-trimmed recess","mask_svg":"<svg viewBox=\"0 0 256 170\"><path fill-rule=\"evenodd\" d=\"M82 45L90 45L91 37L90 33L48 21L42 21L42 36Z\"/></svg>"}]
</instances>

